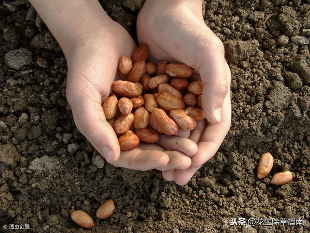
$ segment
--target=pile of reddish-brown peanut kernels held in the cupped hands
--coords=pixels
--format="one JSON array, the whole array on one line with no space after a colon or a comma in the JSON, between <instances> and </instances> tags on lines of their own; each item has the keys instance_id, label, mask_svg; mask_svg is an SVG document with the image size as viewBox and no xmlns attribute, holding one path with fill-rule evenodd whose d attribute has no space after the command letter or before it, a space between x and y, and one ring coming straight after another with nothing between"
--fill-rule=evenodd
<instances>
[{"instance_id":1,"label":"pile of reddish-brown peanut kernels held in the cupped hands","mask_svg":"<svg viewBox=\"0 0 310 233\"><path fill-rule=\"evenodd\" d=\"M147 45L131 58L122 56L118 68L125 81L112 83L111 94L102 104L107 121L119 136L121 150L136 148L140 140L155 143L158 133L176 135L179 128L193 130L205 118L201 81L189 83L194 69L182 63L145 64Z\"/></svg>"}]
</instances>

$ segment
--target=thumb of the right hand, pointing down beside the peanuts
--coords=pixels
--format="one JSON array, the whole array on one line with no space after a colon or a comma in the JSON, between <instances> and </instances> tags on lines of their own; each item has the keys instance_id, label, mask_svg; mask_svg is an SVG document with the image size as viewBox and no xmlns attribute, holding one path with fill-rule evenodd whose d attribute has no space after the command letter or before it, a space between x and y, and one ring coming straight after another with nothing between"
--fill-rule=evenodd
<instances>
[{"instance_id":1,"label":"thumb of the right hand, pointing down beside the peanuts","mask_svg":"<svg viewBox=\"0 0 310 233\"><path fill-rule=\"evenodd\" d=\"M202 105L208 122L218 124L221 122L222 105L229 89L227 69L223 43L212 35L208 38L208 44L199 67L204 84Z\"/></svg>"}]
</instances>

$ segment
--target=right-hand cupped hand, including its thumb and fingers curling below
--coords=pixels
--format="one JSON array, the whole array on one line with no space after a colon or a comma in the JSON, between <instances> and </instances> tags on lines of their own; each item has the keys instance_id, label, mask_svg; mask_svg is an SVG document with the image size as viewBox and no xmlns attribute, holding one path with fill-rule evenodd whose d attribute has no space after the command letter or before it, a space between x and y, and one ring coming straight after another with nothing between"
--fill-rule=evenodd
<instances>
[{"instance_id":1,"label":"right-hand cupped hand, including its thumb and fingers curling below","mask_svg":"<svg viewBox=\"0 0 310 233\"><path fill-rule=\"evenodd\" d=\"M230 69L224 47L205 25L202 0L146 0L137 19L140 43L147 43L151 60L183 62L193 67L204 83L202 104L206 119L198 122L190 139L198 144L185 170L163 171L168 181L186 184L218 150L231 124Z\"/></svg>"}]
</instances>

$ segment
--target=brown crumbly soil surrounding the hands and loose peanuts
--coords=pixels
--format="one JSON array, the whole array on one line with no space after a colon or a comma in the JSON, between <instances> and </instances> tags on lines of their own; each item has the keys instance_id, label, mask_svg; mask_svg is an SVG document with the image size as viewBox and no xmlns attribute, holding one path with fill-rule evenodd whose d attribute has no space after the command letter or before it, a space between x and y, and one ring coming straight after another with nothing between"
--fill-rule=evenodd
<instances>
[{"instance_id":1,"label":"brown crumbly soil surrounding the hands and loose peanuts","mask_svg":"<svg viewBox=\"0 0 310 233\"><path fill-rule=\"evenodd\" d=\"M135 37L143 0L103 0ZM78 132L66 61L26 0L0 5L0 232L310 232L310 0L205 0L206 24L232 71L232 127L185 186L159 171L111 166ZM39 60L38 60L39 59ZM263 152L272 172L256 178ZM290 170L293 182L274 186ZM115 213L95 218L104 200ZM83 230L71 209L93 216ZM231 226L231 218L303 218L303 226ZM29 224L31 230L4 230Z\"/></svg>"}]
</instances>

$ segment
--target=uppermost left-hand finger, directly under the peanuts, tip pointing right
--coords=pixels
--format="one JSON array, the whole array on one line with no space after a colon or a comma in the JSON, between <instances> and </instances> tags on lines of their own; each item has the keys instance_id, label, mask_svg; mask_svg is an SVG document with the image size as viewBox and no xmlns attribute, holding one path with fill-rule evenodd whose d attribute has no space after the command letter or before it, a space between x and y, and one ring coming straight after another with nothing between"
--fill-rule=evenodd
<instances>
[{"instance_id":1,"label":"uppermost left-hand finger, directly under the peanuts, tip pointing right","mask_svg":"<svg viewBox=\"0 0 310 233\"><path fill-rule=\"evenodd\" d=\"M198 150L197 144L188 138L167 136L165 134L160 135L157 145L165 150L177 150L183 152L188 156L194 156Z\"/></svg>"}]
</instances>

